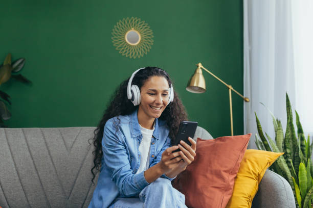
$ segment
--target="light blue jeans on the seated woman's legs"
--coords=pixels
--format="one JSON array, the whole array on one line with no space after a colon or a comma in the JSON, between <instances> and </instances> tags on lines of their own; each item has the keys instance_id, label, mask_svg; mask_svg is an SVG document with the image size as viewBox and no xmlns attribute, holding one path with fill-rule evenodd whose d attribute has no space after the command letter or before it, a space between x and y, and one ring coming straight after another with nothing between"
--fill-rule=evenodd
<instances>
[{"instance_id":1,"label":"light blue jeans on the seated woman's legs","mask_svg":"<svg viewBox=\"0 0 313 208\"><path fill-rule=\"evenodd\" d=\"M171 181L158 178L146 186L139 194L139 198L118 197L109 208L187 208L185 196L172 187Z\"/></svg>"}]
</instances>

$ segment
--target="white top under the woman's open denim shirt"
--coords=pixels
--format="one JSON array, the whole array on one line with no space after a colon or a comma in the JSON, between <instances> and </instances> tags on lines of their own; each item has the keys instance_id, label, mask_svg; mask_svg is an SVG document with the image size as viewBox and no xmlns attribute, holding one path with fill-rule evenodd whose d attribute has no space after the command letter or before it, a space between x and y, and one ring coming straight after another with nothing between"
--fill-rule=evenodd
<instances>
[{"instance_id":1,"label":"white top under the woman's open denim shirt","mask_svg":"<svg viewBox=\"0 0 313 208\"><path fill-rule=\"evenodd\" d=\"M152 138L152 134L154 131L154 125L153 125L153 129L144 128L141 125L140 125L140 128L141 128L141 133L142 133L142 139L139 145L139 152L141 153L140 154L141 156L140 156L140 166L136 173L140 173L149 168L150 143L151 143L151 138Z\"/></svg>"}]
</instances>

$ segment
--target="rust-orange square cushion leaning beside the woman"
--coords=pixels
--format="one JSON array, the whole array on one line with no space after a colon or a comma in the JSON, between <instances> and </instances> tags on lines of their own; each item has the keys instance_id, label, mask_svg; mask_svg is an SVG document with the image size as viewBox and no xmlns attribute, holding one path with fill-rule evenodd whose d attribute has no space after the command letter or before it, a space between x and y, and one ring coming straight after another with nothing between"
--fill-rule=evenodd
<instances>
[{"instance_id":1,"label":"rust-orange square cushion leaning beside the woman","mask_svg":"<svg viewBox=\"0 0 313 208\"><path fill-rule=\"evenodd\" d=\"M227 205L250 136L197 139L194 161L173 180L173 187L185 195L188 207Z\"/></svg>"}]
</instances>

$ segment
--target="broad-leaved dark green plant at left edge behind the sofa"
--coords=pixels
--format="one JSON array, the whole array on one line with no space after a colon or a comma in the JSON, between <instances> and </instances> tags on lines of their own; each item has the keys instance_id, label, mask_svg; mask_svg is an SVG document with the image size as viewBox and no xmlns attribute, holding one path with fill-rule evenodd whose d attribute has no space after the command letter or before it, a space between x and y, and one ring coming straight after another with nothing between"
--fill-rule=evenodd
<instances>
[{"instance_id":1,"label":"broad-leaved dark green plant at left edge behind the sofa","mask_svg":"<svg viewBox=\"0 0 313 208\"><path fill-rule=\"evenodd\" d=\"M26 79L23 75L17 74L24 67L24 65L24 58L20 58L11 64L11 54L8 54L3 65L0 66L0 86L9 81L11 77L23 83L31 83L31 81ZM11 118L11 113L6 102L11 105L11 101L10 96L2 90L0 90L0 97L0 127L6 127L3 120Z\"/></svg>"}]
</instances>

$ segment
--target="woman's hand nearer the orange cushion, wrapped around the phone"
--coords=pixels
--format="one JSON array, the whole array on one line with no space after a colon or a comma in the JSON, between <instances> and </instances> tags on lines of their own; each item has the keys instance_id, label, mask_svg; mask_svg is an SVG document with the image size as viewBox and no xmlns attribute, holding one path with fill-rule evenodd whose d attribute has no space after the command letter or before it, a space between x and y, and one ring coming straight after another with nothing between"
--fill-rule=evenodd
<instances>
[{"instance_id":1,"label":"woman's hand nearer the orange cushion, wrapped around the phone","mask_svg":"<svg viewBox=\"0 0 313 208\"><path fill-rule=\"evenodd\" d=\"M178 151L180 156L177 158L181 158L181 160L180 162L175 163L172 171L166 174L168 177L175 177L179 173L183 172L187 166L194 161L194 157L196 155L196 142L191 137L189 137L188 140L190 141L191 146L184 141L181 141L181 144L178 144L181 151Z\"/></svg>"}]
</instances>

